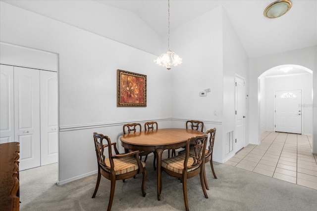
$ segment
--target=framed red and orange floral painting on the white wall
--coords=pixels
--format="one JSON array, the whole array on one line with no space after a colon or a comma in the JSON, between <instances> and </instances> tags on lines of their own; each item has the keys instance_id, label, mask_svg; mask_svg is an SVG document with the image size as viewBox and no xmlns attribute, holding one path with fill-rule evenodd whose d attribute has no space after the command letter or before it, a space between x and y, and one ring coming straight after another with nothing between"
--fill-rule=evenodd
<instances>
[{"instance_id":1,"label":"framed red and orange floral painting on the white wall","mask_svg":"<svg viewBox=\"0 0 317 211\"><path fill-rule=\"evenodd\" d=\"M117 70L117 107L147 106L147 76Z\"/></svg>"}]
</instances>

